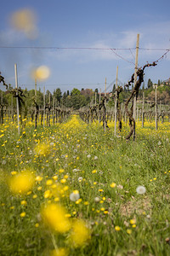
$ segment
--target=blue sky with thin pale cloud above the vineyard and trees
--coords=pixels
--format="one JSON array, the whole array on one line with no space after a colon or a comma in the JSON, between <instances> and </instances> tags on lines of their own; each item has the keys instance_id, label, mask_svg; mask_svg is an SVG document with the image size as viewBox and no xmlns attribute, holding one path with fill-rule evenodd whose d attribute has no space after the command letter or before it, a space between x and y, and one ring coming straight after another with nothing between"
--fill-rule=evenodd
<instances>
[{"instance_id":1,"label":"blue sky with thin pale cloud above the vineyard and trees","mask_svg":"<svg viewBox=\"0 0 170 256\"><path fill-rule=\"evenodd\" d=\"M31 68L46 65L50 76L37 81L41 89L63 92L74 87L105 88L116 79L127 83L134 71L136 38L139 33L139 67L156 61L170 49L170 1L133 0L62 0L3 1L0 15L0 46L31 46L99 49L14 49L0 48L0 71L7 83L14 85L14 63L22 88L34 88ZM28 38L9 22L22 9L36 16L37 38ZM116 50L117 56L111 48ZM132 50L123 50L123 49ZM107 50L106 50L107 49ZM152 49L152 50L151 50ZM162 49L162 50L153 50ZM125 61L125 60L126 61ZM150 78L170 77L170 53L156 67L145 69L144 83Z\"/></svg>"}]
</instances>

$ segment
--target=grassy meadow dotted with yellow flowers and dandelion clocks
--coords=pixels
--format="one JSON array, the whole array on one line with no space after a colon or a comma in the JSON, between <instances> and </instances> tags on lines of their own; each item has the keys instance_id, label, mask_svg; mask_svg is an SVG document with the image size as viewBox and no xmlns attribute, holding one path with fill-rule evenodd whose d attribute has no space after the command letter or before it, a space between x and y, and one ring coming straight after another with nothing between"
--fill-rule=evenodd
<instances>
[{"instance_id":1,"label":"grassy meadow dotted with yellow flowers and dandelion clocks","mask_svg":"<svg viewBox=\"0 0 170 256\"><path fill-rule=\"evenodd\" d=\"M170 123L0 125L0 255L170 254Z\"/></svg>"}]
</instances>

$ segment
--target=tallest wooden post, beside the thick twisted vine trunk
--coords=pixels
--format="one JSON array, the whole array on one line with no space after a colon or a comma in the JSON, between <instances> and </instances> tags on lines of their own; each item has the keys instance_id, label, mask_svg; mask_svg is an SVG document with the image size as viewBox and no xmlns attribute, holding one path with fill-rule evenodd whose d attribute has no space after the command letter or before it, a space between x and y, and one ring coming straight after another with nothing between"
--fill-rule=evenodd
<instances>
[{"instance_id":1,"label":"tallest wooden post, beside the thick twisted vine trunk","mask_svg":"<svg viewBox=\"0 0 170 256\"><path fill-rule=\"evenodd\" d=\"M138 56L139 56L139 34L137 35L137 42L136 42L136 56L135 56L135 68L134 68L134 86L137 83L137 70L138 70ZM133 98L133 119L134 119L134 131L133 131L133 141L135 141L136 137L136 101L137 96L134 95Z\"/></svg>"}]
</instances>

